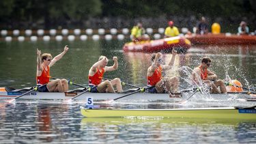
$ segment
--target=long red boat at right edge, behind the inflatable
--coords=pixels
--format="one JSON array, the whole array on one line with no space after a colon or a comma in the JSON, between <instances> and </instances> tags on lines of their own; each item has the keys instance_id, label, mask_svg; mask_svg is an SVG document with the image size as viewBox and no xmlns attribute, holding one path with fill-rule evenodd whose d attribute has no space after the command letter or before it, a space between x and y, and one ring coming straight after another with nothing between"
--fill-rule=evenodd
<instances>
[{"instance_id":1,"label":"long red boat at right edge, behind the inflatable","mask_svg":"<svg viewBox=\"0 0 256 144\"><path fill-rule=\"evenodd\" d=\"M256 44L255 35L227 35L221 34L206 34L206 35L186 35L192 44Z\"/></svg>"}]
</instances>

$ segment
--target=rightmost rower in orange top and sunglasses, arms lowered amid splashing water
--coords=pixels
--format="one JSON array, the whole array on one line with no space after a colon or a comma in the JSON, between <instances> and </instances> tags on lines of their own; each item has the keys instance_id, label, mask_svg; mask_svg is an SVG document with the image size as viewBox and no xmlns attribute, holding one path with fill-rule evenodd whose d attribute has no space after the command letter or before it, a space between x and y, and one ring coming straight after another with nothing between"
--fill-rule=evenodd
<instances>
[{"instance_id":1,"label":"rightmost rower in orange top and sunglasses, arms lowered amid splashing water","mask_svg":"<svg viewBox=\"0 0 256 144\"><path fill-rule=\"evenodd\" d=\"M197 85L206 84L211 88L211 93L227 93L224 81L221 79L217 80L217 75L208 70L211 61L212 60L209 57L203 57L201 65L195 68L192 72L193 81ZM220 87L221 91L218 90L218 87Z\"/></svg>"}]
</instances>

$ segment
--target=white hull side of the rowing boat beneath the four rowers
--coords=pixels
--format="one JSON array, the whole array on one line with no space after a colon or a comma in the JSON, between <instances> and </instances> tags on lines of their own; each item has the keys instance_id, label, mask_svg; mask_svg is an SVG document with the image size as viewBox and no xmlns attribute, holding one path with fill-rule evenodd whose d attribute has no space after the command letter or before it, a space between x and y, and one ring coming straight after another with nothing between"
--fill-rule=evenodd
<instances>
[{"instance_id":1,"label":"white hull side of the rowing boat beneath the four rowers","mask_svg":"<svg viewBox=\"0 0 256 144\"><path fill-rule=\"evenodd\" d=\"M8 98L16 98L23 94L25 92L7 92L7 91L0 91L0 99L8 99ZM42 100L47 100L47 99L56 99L56 100L65 100L65 99L70 99L74 98L74 96L77 96L79 93L57 93L57 92L38 92L38 91L33 91L31 93L27 93L27 95L22 96L18 99L42 99ZM113 100L115 98L119 98L120 96L124 96L127 93L83 93L81 96L75 98L74 100L86 100L87 97L92 97L94 100ZM228 100L229 98L255 98L253 96L250 96L245 93L236 93L236 94L211 94L211 95L203 95L201 93L196 93L195 98L197 99L210 99L213 98L214 100ZM186 96L184 96L186 98ZM183 99L184 99L183 98ZM169 94L167 93L134 93L130 96L124 97L120 100L178 100L182 99L180 96L177 98L170 97Z\"/></svg>"}]
</instances>

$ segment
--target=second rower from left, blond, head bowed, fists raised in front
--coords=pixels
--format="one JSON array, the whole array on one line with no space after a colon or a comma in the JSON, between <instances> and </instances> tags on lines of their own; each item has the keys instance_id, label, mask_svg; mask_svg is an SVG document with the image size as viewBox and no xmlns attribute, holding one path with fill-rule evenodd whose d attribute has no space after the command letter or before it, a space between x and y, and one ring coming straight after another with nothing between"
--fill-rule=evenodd
<instances>
[{"instance_id":1,"label":"second rower from left, blond, head bowed, fists raised in front","mask_svg":"<svg viewBox=\"0 0 256 144\"><path fill-rule=\"evenodd\" d=\"M98 59L98 62L94 63L94 65L91 66L88 74L89 87L91 87L91 92L115 93L115 89L113 87L116 87L117 92L123 91L120 78L114 78L111 81L109 80L102 81L104 72L117 70L118 68L117 57L113 57L113 61L114 61L113 66L106 66L109 62L109 59L107 59L105 56L102 55Z\"/></svg>"}]
</instances>

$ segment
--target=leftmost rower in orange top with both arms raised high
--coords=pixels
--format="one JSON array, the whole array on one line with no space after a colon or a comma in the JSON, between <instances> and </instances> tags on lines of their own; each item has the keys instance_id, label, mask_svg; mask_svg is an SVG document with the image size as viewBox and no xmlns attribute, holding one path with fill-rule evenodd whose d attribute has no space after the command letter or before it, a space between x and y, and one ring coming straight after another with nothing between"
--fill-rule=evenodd
<instances>
[{"instance_id":1,"label":"leftmost rower in orange top with both arms raised high","mask_svg":"<svg viewBox=\"0 0 256 144\"><path fill-rule=\"evenodd\" d=\"M68 46L65 46L62 53L56 57L52 57L50 53L42 54L41 51L37 50L38 55L38 66L36 70L36 82L38 85L42 86L38 88L40 92L66 92L68 91L68 81L66 79L56 79L50 81L50 68L53 66L59 59L65 55L68 51ZM52 59L53 58L53 59ZM45 85L46 84L46 85Z\"/></svg>"}]
</instances>

